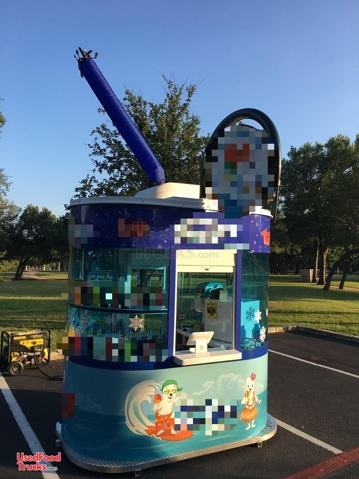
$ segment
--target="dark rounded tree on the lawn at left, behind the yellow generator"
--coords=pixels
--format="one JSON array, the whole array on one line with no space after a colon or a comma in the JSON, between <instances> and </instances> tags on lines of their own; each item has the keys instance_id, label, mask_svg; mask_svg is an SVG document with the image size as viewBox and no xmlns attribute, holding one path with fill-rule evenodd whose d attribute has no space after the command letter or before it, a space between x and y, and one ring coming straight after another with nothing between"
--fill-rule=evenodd
<instances>
[{"instance_id":1,"label":"dark rounded tree on the lawn at left, behind the yellow generator","mask_svg":"<svg viewBox=\"0 0 359 479\"><path fill-rule=\"evenodd\" d=\"M58 221L50 210L40 211L37 206L27 205L9 233L8 255L18 260L13 279L21 279L33 256L50 261L54 257L58 234Z\"/></svg>"}]
</instances>

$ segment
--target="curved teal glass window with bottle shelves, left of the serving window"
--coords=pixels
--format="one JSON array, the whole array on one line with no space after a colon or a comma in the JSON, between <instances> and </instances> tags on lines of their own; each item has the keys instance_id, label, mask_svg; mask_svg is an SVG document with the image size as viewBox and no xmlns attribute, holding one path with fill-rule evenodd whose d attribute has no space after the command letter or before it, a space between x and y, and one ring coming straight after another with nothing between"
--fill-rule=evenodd
<instances>
[{"instance_id":1,"label":"curved teal glass window with bottle shelves, left of the serving window","mask_svg":"<svg viewBox=\"0 0 359 479\"><path fill-rule=\"evenodd\" d=\"M168 251L70 248L69 279L68 329L167 340Z\"/></svg>"}]
</instances>

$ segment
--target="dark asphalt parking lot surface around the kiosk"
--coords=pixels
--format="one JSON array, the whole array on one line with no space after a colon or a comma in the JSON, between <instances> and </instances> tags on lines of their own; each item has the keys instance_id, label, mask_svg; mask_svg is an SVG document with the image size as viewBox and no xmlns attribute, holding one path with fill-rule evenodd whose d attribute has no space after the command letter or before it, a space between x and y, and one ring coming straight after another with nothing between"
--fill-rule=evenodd
<instances>
[{"instance_id":1,"label":"dark asphalt parking lot surface around the kiosk","mask_svg":"<svg viewBox=\"0 0 359 479\"><path fill-rule=\"evenodd\" d=\"M262 448L247 446L145 469L141 477L358 479L359 343L300 332L275 333L269 336L269 350L268 412L279 424L273 438ZM62 361L53 361L45 370L60 375ZM25 370L17 377L3 373L1 384L2 390L10 389L31 426L32 440L38 440L47 455L61 451L55 447L54 433L61 416L61 381ZM0 411L1 478L109 477L78 468L64 454L60 463L53 463L58 468L55 474L18 471L16 453L31 454L20 430L23 417L16 422L3 394ZM110 477L127 479L134 473Z\"/></svg>"}]
</instances>

